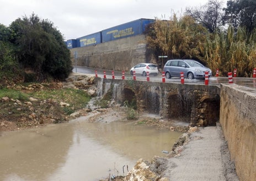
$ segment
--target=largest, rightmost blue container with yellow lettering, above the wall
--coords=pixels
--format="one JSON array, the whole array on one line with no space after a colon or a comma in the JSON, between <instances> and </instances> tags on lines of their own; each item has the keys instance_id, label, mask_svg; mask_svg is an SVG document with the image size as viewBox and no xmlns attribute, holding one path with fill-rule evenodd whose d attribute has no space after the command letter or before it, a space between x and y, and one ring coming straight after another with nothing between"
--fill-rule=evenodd
<instances>
[{"instance_id":1,"label":"largest, rightmost blue container with yellow lettering, above the wall","mask_svg":"<svg viewBox=\"0 0 256 181\"><path fill-rule=\"evenodd\" d=\"M146 26L153 23L153 19L138 19L129 23L114 26L112 28L102 30L102 42L122 39L135 35L141 35L145 31Z\"/></svg>"}]
</instances>

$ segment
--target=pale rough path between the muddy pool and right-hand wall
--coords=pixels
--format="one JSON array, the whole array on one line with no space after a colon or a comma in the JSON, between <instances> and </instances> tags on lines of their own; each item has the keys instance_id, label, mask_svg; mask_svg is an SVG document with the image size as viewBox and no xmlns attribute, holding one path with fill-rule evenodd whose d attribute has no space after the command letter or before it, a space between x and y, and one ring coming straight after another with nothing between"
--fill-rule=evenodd
<instances>
[{"instance_id":1,"label":"pale rough path between the muddy pool and right-hand wall","mask_svg":"<svg viewBox=\"0 0 256 181\"><path fill-rule=\"evenodd\" d=\"M190 139L180 156L168 158L165 177L170 181L239 180L219 124L200 128Z\"/></svg>"}]
</instances>

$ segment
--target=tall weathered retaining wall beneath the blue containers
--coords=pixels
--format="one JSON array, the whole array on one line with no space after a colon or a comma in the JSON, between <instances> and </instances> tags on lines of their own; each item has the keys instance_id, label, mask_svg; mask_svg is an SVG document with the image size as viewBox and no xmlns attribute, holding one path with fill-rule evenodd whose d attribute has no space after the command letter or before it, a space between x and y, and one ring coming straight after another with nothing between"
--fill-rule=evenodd
<instances>
[{"instance_id":1,"label":"tall weathered retaining wall beneath the blue containers","mask_svg":"<svg viewBox=\"0 0 256 181\"><path fill-rule=\"evenodd\" d=\"M122 71L142 62L152 62L152 53L146 48L145 35L137 35L100 43L95 46L71 49L72 62L77 52L77 65Z\"/></svg>"}]
</instances>

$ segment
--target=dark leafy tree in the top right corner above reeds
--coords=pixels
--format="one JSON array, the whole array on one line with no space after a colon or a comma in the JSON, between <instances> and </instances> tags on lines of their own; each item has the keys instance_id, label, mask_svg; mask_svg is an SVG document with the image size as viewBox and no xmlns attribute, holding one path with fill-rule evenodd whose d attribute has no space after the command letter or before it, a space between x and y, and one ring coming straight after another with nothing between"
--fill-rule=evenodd
<instances>
[{"instance_id":1,"label":"dark leafy tree in the top right corner above reeds","mask_svg":"<svg viewBox=\"0 0 256 181\"><path fill-rule=\"evenodd\" d=\"M246 27L248 32L256 28L256 1L255 0L230 0L227 1L227 8L223 20L231 24L235 30L238 26Z\"/></svg>"}]
</instances>

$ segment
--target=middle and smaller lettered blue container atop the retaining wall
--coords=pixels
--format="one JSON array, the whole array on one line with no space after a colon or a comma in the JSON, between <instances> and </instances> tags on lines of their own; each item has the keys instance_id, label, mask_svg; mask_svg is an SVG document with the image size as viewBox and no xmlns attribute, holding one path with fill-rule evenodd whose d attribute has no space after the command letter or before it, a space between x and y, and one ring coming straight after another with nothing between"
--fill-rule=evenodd
<instances>
[{"instance_id":1,"label":"middle and smaller lettered blue container atop the retaining wall","mask_svg":"<svg viewBox=\"0 0 256 181\"><path fill-rule=\"evenodd\" d=\"M95 32L94 34L86 35L77 39L79 47L96 45L102 42L102 32Z\"/></svg>"}]
</instances>

